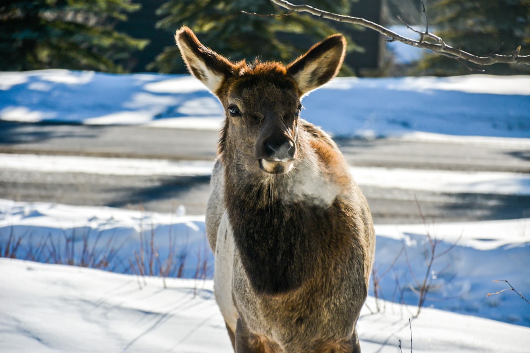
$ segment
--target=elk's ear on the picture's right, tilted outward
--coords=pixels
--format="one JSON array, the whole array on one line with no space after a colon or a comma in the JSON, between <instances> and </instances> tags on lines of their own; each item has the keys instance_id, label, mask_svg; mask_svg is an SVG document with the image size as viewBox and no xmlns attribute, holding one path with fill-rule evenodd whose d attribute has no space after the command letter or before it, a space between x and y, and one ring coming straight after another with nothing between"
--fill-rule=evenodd
<instances>
[{"instance_id":1,"label":"elk's ear on the picture's right, tilted outward","mask_svg":"<svg viewBox=\"0 0 530 353\"><path fill-rule=\"evenodd\" d=\"M293 61L287 71L295 79L301 96L335 77L345 53L346 39L341 34L335 34L316 43L303 56Z\"/></svg>"}]
</instances>

